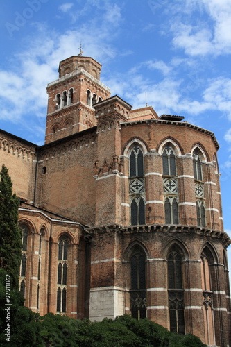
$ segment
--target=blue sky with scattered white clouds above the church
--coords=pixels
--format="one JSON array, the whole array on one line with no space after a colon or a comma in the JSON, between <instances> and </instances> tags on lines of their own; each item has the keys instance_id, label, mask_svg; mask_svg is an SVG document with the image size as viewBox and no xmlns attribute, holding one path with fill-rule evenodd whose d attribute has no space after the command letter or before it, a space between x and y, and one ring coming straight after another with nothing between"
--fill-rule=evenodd
<instances>
[{"instance_id":1,"label":"blue sky with scattered white clouds above the church","mask_svg":"<svg viewBox=\"0 0 231 347\"><path fill-rule=\"evenodd\" d=\"M46 85L82 42L112 95L215 133L231 237L230 0L8 0L0 19L3 130L44 143Z\"/></svg>"}]
</instances>

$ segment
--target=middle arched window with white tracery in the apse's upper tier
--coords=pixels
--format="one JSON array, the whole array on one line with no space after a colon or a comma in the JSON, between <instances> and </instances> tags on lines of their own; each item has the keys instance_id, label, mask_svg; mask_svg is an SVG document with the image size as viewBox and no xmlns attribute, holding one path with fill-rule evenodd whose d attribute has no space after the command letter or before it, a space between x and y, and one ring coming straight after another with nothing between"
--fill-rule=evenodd
<instances>
[{"instance_id":1,"label":"middle arched window with white tracery in the apse's upper tier","mask_svg":"<svg viewBox=\"0 0 231 347\"><path fill-rule=\"evenodd\" d=\"M176 155L173 147L166 144L162 153L164 212L166 224L178 224L178 178L176 176Z\"/></svg>"}]
</instances>

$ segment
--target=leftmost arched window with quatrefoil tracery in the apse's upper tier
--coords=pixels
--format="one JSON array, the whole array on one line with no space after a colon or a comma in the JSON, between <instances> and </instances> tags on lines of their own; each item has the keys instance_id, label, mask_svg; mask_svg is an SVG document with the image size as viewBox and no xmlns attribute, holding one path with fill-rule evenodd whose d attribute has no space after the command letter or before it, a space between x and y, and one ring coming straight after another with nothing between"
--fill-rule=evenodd
<instances>
[{"instance_id":1,"label":"leftmost arched window with quatrefoil tracery in the apse's upper tier","mask_svg":"<svg viewBox=\"0 0 231 347\"><path fill-rule=\"evenodd\" d=\"M144 154L135 144L129 156L130 223L145 224Z\"/></svg>"}]
</instances>

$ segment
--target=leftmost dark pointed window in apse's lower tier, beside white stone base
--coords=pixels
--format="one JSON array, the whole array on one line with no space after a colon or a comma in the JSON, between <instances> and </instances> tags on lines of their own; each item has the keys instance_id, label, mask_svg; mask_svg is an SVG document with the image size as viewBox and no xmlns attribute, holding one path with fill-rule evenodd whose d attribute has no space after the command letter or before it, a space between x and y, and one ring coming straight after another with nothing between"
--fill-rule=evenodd
<instances>
[{"instance_id":1,"label":"leftmost dark pointed window in apse's lower tier, beside white stone base","mask_svg":"<svg viewBox=\"0 0 231 347\"><path fill-rule=\"evenodd\" d=\"M130 257L130 310L132 317L146 318L146 256L137 246Z\"/></svg>"}]
</instances>

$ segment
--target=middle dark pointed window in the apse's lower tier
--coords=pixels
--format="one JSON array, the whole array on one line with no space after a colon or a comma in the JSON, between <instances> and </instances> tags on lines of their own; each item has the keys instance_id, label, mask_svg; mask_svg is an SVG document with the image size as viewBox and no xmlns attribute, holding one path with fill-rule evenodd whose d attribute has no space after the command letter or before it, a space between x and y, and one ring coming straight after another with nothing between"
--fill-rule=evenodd
<instances>
[{"instance_id":1,"label":"middle dark pointed window in the apse's lower tier","mask_svg":"<svg viewBox=\"0 0 231 347\"><path fill-rule=\"evenodd\" d=\"M169 251L167 264L170 330L178 334L185 334L182 252L178 246L173 246Z\"/></svg>"}]
</instances>

